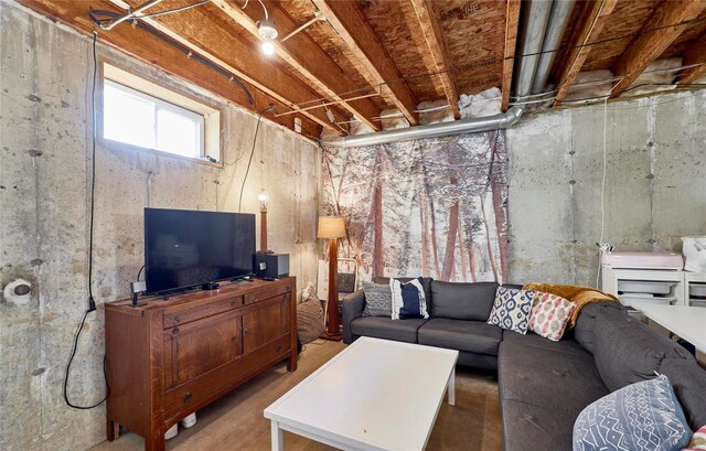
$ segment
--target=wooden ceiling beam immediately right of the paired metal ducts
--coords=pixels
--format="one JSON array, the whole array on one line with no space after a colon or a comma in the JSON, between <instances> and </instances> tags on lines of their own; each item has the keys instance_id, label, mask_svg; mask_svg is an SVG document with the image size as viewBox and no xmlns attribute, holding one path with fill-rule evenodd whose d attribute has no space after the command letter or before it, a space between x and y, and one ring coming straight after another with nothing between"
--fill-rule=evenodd
<instances>
[{"instance_id":1,"label":"wooden ceiling beam immediately right of the paired metal ducts","mask_svg":"<svg viewBox=\"0 0 706 451\"><path fill-rule=\"evenodd\" d=\"M598 41L600 32L606 26L608 18L613 12L618 0L593 0L590 6L585 9L587 13L581 18L579 31L575 33L570 43L570 52L565 60L567 65L561 71L559 84L557 85L556 98L553 106L561 105L561 101L568 94L576 76L581 71L586 58L591 52L591 45L586 45Z\"/></svg>"}]
</instances>

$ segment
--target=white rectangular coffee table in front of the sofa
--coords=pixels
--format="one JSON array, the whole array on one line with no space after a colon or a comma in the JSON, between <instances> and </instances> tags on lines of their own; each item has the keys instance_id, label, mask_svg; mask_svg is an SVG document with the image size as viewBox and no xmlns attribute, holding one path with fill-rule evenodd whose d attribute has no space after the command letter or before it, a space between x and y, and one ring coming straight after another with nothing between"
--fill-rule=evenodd
<instances>
[{"instance_id":1,"label":"white rectangular coffee table in front of the sofa","mask_svg":"<svg viewBox=\"0 0 706 451\"><path fill-rule=\"evenodd\" d=\"M265 409L282 430L343 450L424 450L459 352L361 337Z\"/></svg>"}]
</instances>

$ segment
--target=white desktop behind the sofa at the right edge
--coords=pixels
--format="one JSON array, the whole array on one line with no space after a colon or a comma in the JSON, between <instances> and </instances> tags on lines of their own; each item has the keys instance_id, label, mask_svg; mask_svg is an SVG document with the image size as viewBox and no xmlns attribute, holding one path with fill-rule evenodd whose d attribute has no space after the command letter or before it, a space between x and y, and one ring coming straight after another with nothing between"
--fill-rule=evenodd
<instances>
[{"instance_id":1,"label":"white desktop behind the sofa at the right edge","mask_svg":"<svg viewBox=\"0 0 706 451\"><path fill-rule=\"evenodd\" d=\"M632 301L631 307L706 353L706 309Z\"/></svg>"}]
</instances>

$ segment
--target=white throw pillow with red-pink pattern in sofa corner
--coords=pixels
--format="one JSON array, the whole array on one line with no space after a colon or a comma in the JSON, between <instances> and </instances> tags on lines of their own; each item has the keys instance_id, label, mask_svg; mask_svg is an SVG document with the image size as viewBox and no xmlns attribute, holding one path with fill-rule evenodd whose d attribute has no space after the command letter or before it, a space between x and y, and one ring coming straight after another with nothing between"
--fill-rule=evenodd
<instances>
[{"instance_id":1,"label":"white throw pillow with red-pink pattern in sofa corner","mask_svg":"<svg viewBox=\"0 0 706 451\"><path fill-rule=\"evenodd\" d=\"M559 296L537 292L530 315L530 330L537 335L558 342L571 319L576 304Z\"/></svg>"}]
</instances>

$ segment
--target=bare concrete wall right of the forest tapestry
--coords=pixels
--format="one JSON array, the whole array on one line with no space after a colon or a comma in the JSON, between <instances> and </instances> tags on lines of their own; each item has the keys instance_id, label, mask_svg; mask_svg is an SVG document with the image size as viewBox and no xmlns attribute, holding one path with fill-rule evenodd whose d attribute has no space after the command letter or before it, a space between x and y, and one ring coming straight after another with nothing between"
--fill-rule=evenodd
<instances>
[{"instance_id":1,"label":"bare concrete wall right of the forest tapestry","mask_svg":"<svg viewBox=\"0 0 706 451\"><path fill-rule=\"evenodd\" d=\"M706 90L608 105L603 241L681 251L706 235ZM593 286L603 106L526 116L507 130L510 280Z\"/></svg>"}]
</instances>

